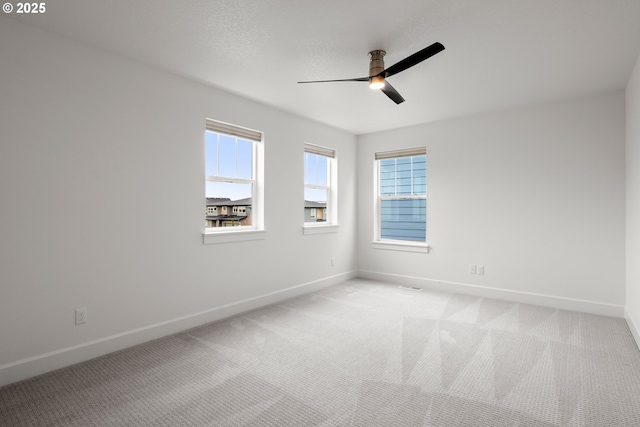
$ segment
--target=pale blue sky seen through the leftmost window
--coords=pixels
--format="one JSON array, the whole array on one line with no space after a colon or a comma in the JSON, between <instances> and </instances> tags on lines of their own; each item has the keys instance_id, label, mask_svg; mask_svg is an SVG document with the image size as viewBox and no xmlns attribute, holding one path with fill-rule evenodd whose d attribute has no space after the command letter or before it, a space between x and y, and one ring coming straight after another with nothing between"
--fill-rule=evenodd
<instances>
[{"instance_id":1,"label":"pale blue sky seen through the leftmost window","mask_svg":"<svg viewBox=\"0 0 640 427\"><path fill-rule=\"evenodd\" d=\"M253 179L253 143L234 136L207 131L205 134L207 176ZM251 184L206 181L206 197L240 200L251 197Z\"/></svg>"}]
</instances>

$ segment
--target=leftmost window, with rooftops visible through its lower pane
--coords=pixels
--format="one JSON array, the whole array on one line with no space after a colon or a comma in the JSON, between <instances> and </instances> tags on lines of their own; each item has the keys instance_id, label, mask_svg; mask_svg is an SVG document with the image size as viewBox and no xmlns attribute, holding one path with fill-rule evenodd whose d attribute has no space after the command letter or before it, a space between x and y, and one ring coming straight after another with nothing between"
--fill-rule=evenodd
<instances>
[{"instance_id":1,"label":"leftmost window, with rooftops visible through its lower pane","mask_svg":"<svg viewBox=\"0 0 640 427\"><path fill-rule=\"evenodd\" d=\"M207 119L205 243L216 243L207 234L263 228L261 159L260 132Z\"/></svg>"}]
</instances>

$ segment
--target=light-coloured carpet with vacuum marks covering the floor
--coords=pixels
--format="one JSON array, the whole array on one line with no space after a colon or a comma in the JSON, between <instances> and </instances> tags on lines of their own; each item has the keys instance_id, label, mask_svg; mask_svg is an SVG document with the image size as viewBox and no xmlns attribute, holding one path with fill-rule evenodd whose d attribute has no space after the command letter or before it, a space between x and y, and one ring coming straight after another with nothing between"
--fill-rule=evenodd
<instances>
[{"instance_id":1,"label":"light-coloured carpet with vacuum marks covering the floor","mask_svg":"<svg viewBox=\"0 0 640 427\"><path fill-rule=\"evenodd\" d=\"M2 426L640 426L623 319L351 280L0 389Z\"/></svg>"}]
</instances>

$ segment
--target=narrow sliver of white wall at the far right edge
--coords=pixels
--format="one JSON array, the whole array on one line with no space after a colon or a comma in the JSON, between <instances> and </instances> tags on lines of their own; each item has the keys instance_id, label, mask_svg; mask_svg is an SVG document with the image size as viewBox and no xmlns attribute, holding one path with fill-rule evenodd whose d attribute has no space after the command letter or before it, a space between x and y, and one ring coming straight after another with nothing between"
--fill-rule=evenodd
<instances>
[{"instance_id":1,"label":"narrow sliver of white wall at the far right edge","mask_svg":"<svg viewBox=\"0 0 640 427\"><path fill-rule=\"evenodd\" d=\"M625 317L640 346L640 58L626 90L627 298Z\"/></svg>"}]
</instances>

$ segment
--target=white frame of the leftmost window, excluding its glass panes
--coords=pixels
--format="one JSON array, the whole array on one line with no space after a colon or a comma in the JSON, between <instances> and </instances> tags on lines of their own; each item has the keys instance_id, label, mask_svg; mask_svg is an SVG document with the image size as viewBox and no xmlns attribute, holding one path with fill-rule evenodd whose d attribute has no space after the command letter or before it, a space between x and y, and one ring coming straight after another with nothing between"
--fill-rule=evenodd
<instances>
[{"instance_id":1,"label":"white frame of the leftmost window, excluding its glass panes","mask_svg":"<svg viewBox=\"0 0 640 427\"><path fill-rule=\"evenodd\" d=\"M206 119L204 132L204 154L206 159L206 135L215 132L231 136L237 141L246 140L252 143L251 179L207 175L205 168L205 187L207 182L228 182L234 184L251 184L251 225L235 227L204 227L203 243L228 243L247 240L262 240L266 237L264 227L264 134L253 129L232 125L229 123ZM237 156L237 146L236 146ZM206 161L206 160L205 160ZM236 157L237 162L237 157ZM206 191L205 191L206 200ZM206 212L206 204L205 204Z\"/></svg>"}]
</instances>

